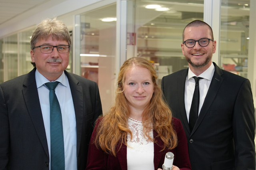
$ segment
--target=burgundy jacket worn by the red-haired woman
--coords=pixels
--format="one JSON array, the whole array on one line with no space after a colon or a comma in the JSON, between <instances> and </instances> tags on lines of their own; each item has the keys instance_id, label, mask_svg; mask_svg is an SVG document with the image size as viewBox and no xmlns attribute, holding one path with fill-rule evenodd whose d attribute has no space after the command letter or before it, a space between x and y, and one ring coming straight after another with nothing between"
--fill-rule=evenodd
<instances>
[{"instance_id":1,"label":"burgundy jacket worn by the red-haired woman","mask_svg":"<svg viewBox=\"0 0 256 170\"><path fill-rule=\"evenodd\" d=\"M127 170L127 146L122 144L120 150L119 147L116 148L117 156L114 157L111 154L104 153L100 148L96 148L92 141L95 139L97 127L102 121L100 118L92 133L91 143L88 151L87 167L86 170ZM172 119L174 129L178 136L178 146L173 150L162 150L163 142L160 137L157 136L157 132L153 130L154 138L156 143L154 143L154 168L162 169L164 164L164 157L167 152L172 152L174 154L175 166L178 166L180 170L191 170L191 165L188 157L188 146L186 142L186 135L180 123L180 120Z\"/></svg>"}]
</instances>

